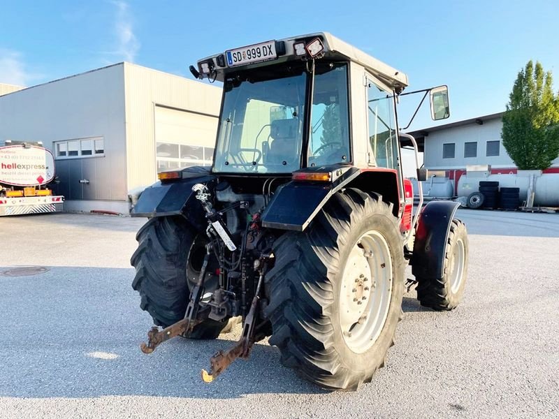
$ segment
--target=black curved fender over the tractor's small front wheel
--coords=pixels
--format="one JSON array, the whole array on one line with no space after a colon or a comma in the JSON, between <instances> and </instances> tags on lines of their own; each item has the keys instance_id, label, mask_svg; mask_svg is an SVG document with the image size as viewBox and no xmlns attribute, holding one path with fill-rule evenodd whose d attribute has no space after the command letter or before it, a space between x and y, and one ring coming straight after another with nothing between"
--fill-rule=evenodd
<instances>
[{"instance_id":1,"label":"black curved fender over the tractor's small front wheel","mask_svg":"<svg viewBox=\"0 0 559 419\"><path fill-rule=\"evenodd\" d=\"M450 226L459 206L452 201L431 201L421 211L410 260L416 278L442 278Z\"/></svg>"}]
</instances>

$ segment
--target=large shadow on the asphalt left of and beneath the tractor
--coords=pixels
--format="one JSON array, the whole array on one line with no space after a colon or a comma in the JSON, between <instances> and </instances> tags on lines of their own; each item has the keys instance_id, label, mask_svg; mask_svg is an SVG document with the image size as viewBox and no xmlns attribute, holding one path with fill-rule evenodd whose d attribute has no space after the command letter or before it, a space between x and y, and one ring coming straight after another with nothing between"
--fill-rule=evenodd
<instances>
[{"instance_id":1,"label":"large shadow on the asphalt left of and beneath the tractor","mask_svg":"<svg viewBox=\"0 0 559 419\"><path fill-rule=\"evenodd\" d=\"M213 383L201 369L235 344L241 327L215 340L175 337L146 355L139 345L152 325L138 307L131 269L50 267L27 277L0 276L6 330L0 397L104 396L234 399L264 393L327 393L282 367L262 341ZM1 416L1 413L0 413Z\"/></svg>"}]
</instances>

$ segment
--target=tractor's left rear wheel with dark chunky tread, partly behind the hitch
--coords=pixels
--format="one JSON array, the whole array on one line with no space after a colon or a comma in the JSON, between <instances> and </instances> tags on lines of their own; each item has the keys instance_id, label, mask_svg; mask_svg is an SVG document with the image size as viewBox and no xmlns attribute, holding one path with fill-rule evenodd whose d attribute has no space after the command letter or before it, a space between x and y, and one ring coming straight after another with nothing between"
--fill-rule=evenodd
<instances>
[{"instance_id":1,"label":"tractor's left rear wheel with dark chunky tread, partly behind the hitch","mask_svg":"<svg viewBox=\"0 0 559 419\"><path fill-rule=\"evenodd\" d=\"M140 293L141 309L150 313L156 325L166 328L184 318L189 301L193 274L201 267L205 251L182 216L154 217L136 235L138 249L130 263L136 268L132 288ZM215 261L217 263L217 260ZM207 272L210 271L208 264ZM188 273L188 279L187 279ZM211 273L210 273L211 274ZM213 275L215 277L215 275ZM206 279L206 292L213 291L217 279ZM213 287L213 288L212 288ZM226 326L225 321L205 320L190 336L194 339L215 339Z\"/></svg>"}]
</instances>

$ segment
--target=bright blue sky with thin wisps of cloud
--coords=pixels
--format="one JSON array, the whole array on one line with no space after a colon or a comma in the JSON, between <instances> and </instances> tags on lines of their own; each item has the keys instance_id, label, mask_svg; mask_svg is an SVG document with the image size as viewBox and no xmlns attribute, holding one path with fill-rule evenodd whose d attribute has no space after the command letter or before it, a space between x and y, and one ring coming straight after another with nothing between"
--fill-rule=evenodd
<instances>
[{"instance_id":1,"label":"bright blue sky with thin wisps of cloud","mask_svg":"<svg viewBox=\"0 0 559 419\"><path fill-rule=\"evenodd\" d=\"M209 54L314 31L404 71L409 89L448 84L445 122L504 110L529 59L559 80L557 0L0 0L0 10L0 82L27 86L119 61L191 78L189 64ZM411 128L433 124L425 108Z\"/></svg>"}]
</instances>

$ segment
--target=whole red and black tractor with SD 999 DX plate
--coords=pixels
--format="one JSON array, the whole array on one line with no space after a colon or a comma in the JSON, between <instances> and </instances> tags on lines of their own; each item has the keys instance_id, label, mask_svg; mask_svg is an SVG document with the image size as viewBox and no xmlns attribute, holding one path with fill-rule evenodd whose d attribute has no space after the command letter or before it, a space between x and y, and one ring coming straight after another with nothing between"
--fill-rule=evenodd
<instances>
[{"instance_id":1,"label":"whole red and black tractor with SD 999 DX plate","mask_svg":"<svg viewBox=\"0 0 559 419\"><path fill-rule=\"evenodd\" d=\"M451 310L467 274L458 204L423 206L418 182L414 212L402 175L412 147L426 178L398 126L407 76L328 33L226 50L190 71L223 83L215 154L211 168L159 173L133 207L148 218L131 258L154 321L142 351L215 339L242 319L203 381L269 337L300 377L356 390L384 366L405 288ZM449 117L447 87L418 92L433 119Z\"/></svg>"}]
</instances>

